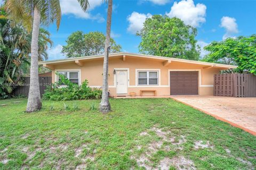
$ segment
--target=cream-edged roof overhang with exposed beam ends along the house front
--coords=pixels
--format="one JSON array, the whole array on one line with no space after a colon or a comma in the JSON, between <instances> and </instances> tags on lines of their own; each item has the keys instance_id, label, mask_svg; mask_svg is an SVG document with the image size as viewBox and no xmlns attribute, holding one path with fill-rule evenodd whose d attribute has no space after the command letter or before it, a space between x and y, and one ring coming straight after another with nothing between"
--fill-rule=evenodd
<instances>
[{"instance_id":1,"label":"cream-edged roof overhang with exposed beam ends along the house front","mask_svg":"<svg viewBox=\"0 0 256 170\"><path fill-rule=\"evenodd\" d=\"M53 65L55 64L64 64L64 63L76 63L79 66L83 66L83 62L87 60L96 60L103 58L103 55L94 55L94 56L85 56L85 57L76 57L76 58L66 58L62 60L52 60L52 61L44 61L39 62L39 65L43 65L44 67L48 67L53 70ZM138 57L138 58L151 58L154 60L163 61L163 65L169 65L172 62L181 62L181 63L190 63L190 64L199 64L203 65L203 69L209 69L211 67L219 67L220 69L235 69L237 66L235 65L226 65L226 64L218 64L218 63L209 63L209 62L201 62L201 61L193 61L193 60L185 60L180 58L171 58L171 57L163 57L163 56L153 56L153 55L145 55L145 54L134 54L134 53L114 53L109 54L109 59L115 57L123 57L123 61L128 57Z\"/></svg>"}]
</instances>

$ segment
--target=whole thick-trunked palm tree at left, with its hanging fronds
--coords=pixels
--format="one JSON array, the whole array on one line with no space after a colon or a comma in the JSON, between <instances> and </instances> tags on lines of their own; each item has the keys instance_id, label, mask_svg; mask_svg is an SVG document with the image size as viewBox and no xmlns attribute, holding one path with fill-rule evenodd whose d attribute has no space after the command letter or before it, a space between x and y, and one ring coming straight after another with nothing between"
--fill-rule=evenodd
<instances>
[{"instance_id":1,"label":"whole thick-trunked palm tree at left, with its hanging fronds","mask_svg":"<svg viewBox=\"0 0 256 170\"><path fill-rule=\"evenodd\" d=\"M78 0L85 11L89 6L88 0ZM34 112L42 107L38 81L38 36L40 24L49 25L56 21L59 29L61 8L59 0L7 0L6 12L11 19L22 22L29 30L31 37L30 84L27 112ZM32 27L31 27L32 25Z\"/></svg>"}]
</instances>

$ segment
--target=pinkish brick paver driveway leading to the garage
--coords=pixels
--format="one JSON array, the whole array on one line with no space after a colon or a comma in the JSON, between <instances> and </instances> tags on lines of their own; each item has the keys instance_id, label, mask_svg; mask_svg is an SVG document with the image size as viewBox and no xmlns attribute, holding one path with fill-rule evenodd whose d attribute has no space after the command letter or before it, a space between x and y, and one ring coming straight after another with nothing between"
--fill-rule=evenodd
<instances>
[{"instance_id":1,"label":"pinkish brick paver driveway leading to the garage","mask_svg":"<svg viewBox=\"0 0 256 170\"><path fill-rule=\"evenodd\" d=\"M256 135L256 98L198 95L171 97Z\"/></svg>"}]
</instances>

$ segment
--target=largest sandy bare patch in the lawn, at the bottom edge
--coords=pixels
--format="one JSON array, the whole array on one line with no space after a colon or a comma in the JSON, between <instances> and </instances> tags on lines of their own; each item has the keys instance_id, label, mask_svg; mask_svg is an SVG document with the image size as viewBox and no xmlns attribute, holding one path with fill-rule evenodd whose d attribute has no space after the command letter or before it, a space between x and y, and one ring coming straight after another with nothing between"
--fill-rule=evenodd
<instances>
[{"instance_id":1,"label":"largest sandy bare patch in the lawn, at the bottom edge","mask_svg":"<svg viewBox=\"0 0 256 170\"><path fill-rule=\"evenodd\" d=\"M192 160L186 159L185 157L174 157L169 158L165 157L159 160L157 166L153 166L154 163L151 162L150 158L156 154L158 150L163 151L170 151L171 149L174 150L182 150L182 144L185 143L186 137L185 135L176 136L171 131L165 131L164 129L157 128L157 126L153 126L147 131L141 132L140 136L151 135L154 132L157 137L161 138L160 140L153 140L152 142L148 143L146 146L146 152L142 153L140 156L135 157L131 156L132 159L135 159L137 165L139 167L144 167L145 169L170 169L171 166L176 167L177 169L195 169L194 163ZM153 136L152 136L153 137ZM167 145L166 145L167 143ZM141 149L142 146L136 146L137 149Z\"/></svg>"}]
</instances>

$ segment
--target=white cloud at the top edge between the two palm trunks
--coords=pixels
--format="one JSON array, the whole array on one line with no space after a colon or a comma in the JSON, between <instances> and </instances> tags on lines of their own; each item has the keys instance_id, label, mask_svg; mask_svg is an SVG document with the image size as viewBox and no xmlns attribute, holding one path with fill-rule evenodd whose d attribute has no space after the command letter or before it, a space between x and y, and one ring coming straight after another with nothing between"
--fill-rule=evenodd
<instances>
[{"instance_id":1,"label":"white cloud at the top edge between the two palm trunks","mask_svg":"<svg viewBox=\"0 0 256 170\"><path fill-rule=\"evenodd\" d=\"M102 3L102 0L89 0L90 7L84 12L76 0L60 0L61 12L63 15L71 14L76 18L97 20L98 22L103 22L105 19L99 13L92 15L90 11L97 6L100 6Z\"/></svg>"}]
</instances>

